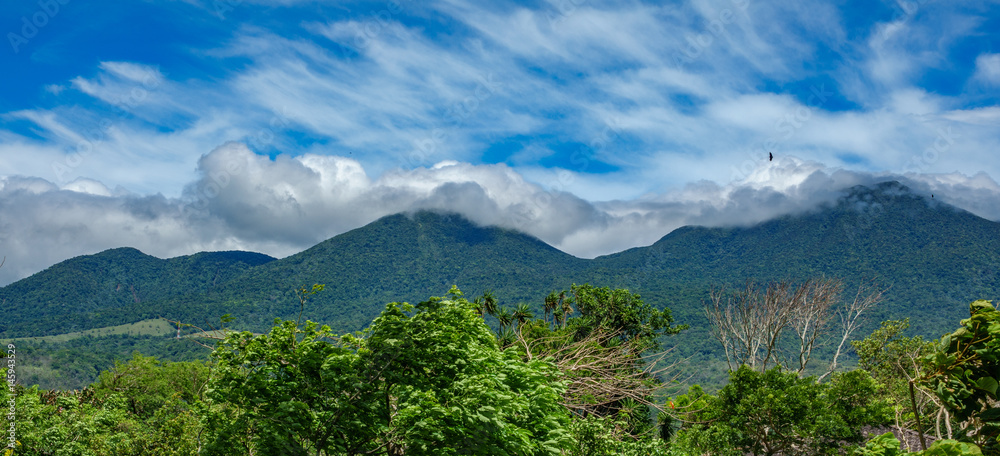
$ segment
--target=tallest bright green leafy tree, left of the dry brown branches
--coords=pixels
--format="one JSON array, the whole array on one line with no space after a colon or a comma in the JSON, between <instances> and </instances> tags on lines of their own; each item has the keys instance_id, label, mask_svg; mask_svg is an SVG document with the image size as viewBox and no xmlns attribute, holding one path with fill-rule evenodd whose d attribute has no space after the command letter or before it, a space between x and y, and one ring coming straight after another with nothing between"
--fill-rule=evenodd
<instances>
[{"instance_id":1,"label":"tallest bright green leafy tree, left of the dry brown branches","mask_svg":"<svg viewBox=\"0 0 1000 456\"><path fill-rule=\"evenodd\" d=\"M389 447L408 455L554 455L570 443L555 367L501 352L457 288L416 307L388 305L363 342L368 368L386 366L379 438Z\"/></svg>"}]
</instances>

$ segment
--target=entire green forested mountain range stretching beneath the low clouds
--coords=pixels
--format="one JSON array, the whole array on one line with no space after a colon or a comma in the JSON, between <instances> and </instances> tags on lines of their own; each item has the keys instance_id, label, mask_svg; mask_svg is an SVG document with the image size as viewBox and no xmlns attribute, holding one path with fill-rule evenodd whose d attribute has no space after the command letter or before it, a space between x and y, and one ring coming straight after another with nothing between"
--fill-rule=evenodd
<instances>
[{"instance_id":1,"label":"entire green forested mountain range stretching beneath the low clouds","mask_svg":"<svg viewBox=\"0 0 1000 456\"><path fill-rule=\"evenodd\" d=\"M711 287L816 274L849 286L869 279L891 285L872 324L909 316L917 332L936 337L970 300L1000 294L1000 223L889 182L853 188L806 214L753 227L684 227L651 246L593 260L430 212L385 217L271 260L247 252L159 260L134 249L74 258L0 288L0 338L157 316L200 324L223 314L263 331L274 317L294 318L294 290L314 283L326 290L311 298L303 318L339 332L364 327L386 302L416 302L453 284L540 310L548 292L583 282L638 291L697 332Z\"/></svg>"}]
</instances>

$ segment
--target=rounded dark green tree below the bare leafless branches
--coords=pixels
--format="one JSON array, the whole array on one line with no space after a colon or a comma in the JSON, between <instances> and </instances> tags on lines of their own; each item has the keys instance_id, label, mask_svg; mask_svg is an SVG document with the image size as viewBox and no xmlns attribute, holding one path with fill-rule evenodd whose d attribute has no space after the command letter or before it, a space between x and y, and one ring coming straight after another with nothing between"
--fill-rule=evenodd
<instances>
[{"instance_id":1,"label":"rounded dark green tree below the bare leafless branches","mask_svg":"<svg viewBox=\"0 0 1000 456\"><path fill-rule=\"evenodd\" d=\"M889 420L887 405L872 400L876 390L863 371L820 384L780 368L761 373L744 365L730 374L717 397L698 389L679 398L687 425L675 444L712 454L835 452L842 442L860 442L862 426Z\"/></svg>"}]
</instances>

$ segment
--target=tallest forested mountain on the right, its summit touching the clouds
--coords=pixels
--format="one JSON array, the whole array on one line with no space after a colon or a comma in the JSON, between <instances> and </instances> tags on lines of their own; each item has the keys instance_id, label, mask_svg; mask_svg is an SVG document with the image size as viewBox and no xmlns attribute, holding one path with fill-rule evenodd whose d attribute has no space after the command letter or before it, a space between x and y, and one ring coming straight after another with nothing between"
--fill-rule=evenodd
<instances>
[{"instance_id":1,"label":"tallest forested mountain on the right, its summit touching the clouds","mask_svg":"<svg viewBox=\"0 0 1000 456\"><path fill-rule=\"evenodd\" d=\"M968 316L972 300L1000 297L1000 223L887 182L749 228L684 227L594 262L598 276L638 277L633 288L656 298L677 283L705 289L820 274L845 279L848 298L860 282L876 280L891 289L874 317L913 316L914 330L937 337L940 324ZM687 305L699 313L700 303Z\"/></svg>"}]
</instances>

